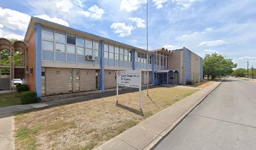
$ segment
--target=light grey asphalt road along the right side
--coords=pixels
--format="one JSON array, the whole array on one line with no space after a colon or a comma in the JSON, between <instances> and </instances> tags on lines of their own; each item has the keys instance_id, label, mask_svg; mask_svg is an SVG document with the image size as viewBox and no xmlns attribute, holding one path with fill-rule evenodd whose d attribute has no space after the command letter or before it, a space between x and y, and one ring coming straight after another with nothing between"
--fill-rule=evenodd
<instances>
[{"instance_id":1,"label":"light grey asphalt road along the right side","mask_svg":"<svg viewBox=\"0 0 256 150\"><path fill-rule=\"evenodd\" d=\"M227 78L155 149L256 149L256 83Z\"/></svg>"}]
</instances>

